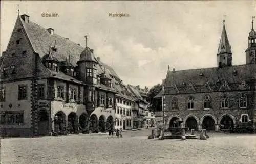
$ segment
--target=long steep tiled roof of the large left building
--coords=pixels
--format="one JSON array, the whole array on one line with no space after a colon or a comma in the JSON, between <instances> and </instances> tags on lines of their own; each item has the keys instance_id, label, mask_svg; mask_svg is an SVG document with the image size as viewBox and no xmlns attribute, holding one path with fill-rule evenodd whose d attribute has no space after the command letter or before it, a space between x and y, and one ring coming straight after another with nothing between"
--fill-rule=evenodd
<instances>
[{"instance_id":1,"label":"long steep tiled roof of the large left building","mask_svg":"<svg viewBox=\"0 0 256 164\"><path fill-rule=\"evenodd\" d=\"M41 58L46 58L46 54L49 54L49 44L55 45L56 52L54 52L54 58L58 61L62 61L61 64L69 64L72 66L76 66L76 63L80 60L80 54L82 52L84 53L90 53L90 59L98 63L96 65L97 68L97 74L100 75L104 73L107 78L110 78L112 80L113 87L107 87L102 84L97 85L98 88L103 90L108 90L111 92L118 92L119 97L123 97L125 99L134 101L134 99L131 96L127 96L124 92L124 94L121 91L124 91L122 82L117 75L117 73L114 71L114 69L102 61L98 61L95 57L95 54L90 50L89 47L84 48L73 41L66 39L65 37L62 37L56 33L54 35L50 34L46 28L43 28L42 26L34 23L33 21L29 20L29 22L25 22L22 18L18 18L20 21L22 21L22 24L24 26L24 29L28 35L28 38L32 44L32 47L36 53L39 54ZM70 59L67 61L67 54L70 55ZM66 61L66 62L65 62ZM69 63L70 61L70 63ZM75 83L81 83L79 80L66 75L62 72L54 72L49 69L46 69L50 72L50 74L54 74L54 78L59 78L62 80L71 80Z\"/></svg>"}]
</instances>

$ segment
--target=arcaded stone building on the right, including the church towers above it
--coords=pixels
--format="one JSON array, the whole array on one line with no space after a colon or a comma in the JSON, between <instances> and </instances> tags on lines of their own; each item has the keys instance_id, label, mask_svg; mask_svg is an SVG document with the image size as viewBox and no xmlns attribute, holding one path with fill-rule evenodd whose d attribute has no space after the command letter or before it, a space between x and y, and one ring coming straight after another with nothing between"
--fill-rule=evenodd
<instances>
[{"instance_id":1,"label":"arcaded stone building on the right, including the church towers above it","mask_svg":"<svg viewBox=\"0 0 256 164\"><path fill-rule=\"evenodd\" d=\"M232 52L223 22L217 53L218 67L167 71L158 102L156 120L165 129L183 126L200 130L219 130L223 125L256 122L256 32L252 29L245 47L246 63L232 65ZM163 113L164 112L164 113ZM164 118L164 120L162 119Z\"/></svg>"}]
</instances>

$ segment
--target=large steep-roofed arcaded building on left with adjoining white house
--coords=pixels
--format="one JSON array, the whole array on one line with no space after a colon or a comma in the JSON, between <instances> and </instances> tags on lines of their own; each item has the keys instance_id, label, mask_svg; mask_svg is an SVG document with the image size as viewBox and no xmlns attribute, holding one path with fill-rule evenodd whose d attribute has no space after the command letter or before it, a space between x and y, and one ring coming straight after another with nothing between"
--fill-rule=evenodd
<instances>
[{"instance_id":1,"label":"large steep-roofed arcaded building on left with adjoining white house","mask_svg":"<svg viewBox=\"0 0 256 164\"><path fill-rule=\"evenodd\" d=\"M133 128L136 95L87 43L18 15L0 63L2 135Z\"/></svg>"}]
</instances>

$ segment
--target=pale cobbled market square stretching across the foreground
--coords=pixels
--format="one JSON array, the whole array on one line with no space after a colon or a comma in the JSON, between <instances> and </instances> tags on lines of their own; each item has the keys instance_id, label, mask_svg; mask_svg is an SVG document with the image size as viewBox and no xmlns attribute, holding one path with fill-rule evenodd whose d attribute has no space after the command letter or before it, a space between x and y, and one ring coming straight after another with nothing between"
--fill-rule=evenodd
<instances>
[{"instance_id":1,"label":"pale cobbled market square stretching across the foreground","mask_svg":"<svg viewBox=\"0 0 256 164\"><path fill-rule=\"evenodd\" d=\"M256 163L255 134L209 133L210 139L147 139L151 129L123 138L68 135L1 139L5 163Z\"/></svg>"}]
</instances>

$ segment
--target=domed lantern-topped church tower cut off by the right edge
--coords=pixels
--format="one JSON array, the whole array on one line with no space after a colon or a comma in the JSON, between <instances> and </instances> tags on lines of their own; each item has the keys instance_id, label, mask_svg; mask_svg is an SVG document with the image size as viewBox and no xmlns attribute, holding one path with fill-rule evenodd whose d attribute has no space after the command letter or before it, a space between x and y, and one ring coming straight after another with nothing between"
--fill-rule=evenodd
<instances>
[{"instance_id":1,"label":"domed lantern-topped church tower cut off by the right edge","mask_svg":"<svg viewBox=\"0 0 256 164\"><path fill-rule=\"evenodd\" d=\"M245 51L246 64L256 64L256 32L253 29L253 18L251 22L251 31L248 36L248 48Z\"/></svg>"}]
</instances>

